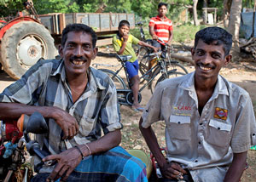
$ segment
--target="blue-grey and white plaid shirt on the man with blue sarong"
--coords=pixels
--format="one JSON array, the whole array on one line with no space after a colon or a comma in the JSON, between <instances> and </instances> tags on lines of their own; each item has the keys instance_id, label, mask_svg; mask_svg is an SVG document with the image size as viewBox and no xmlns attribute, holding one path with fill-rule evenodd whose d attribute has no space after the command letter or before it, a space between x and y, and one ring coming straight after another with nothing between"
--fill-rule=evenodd
<instances>
[{"instance_id":1,"label":"blue-grey and white plaid shirt on the man with blue sarong","mask_svg":"<svg viewBox=\"0 0 256 182\"><path fill-rule=\"evenodd\" d=\"M69 142L81 145L122 128L119 122L116 88L113 81L102 71L89 68L89 82L84 94L73 103L62 60L41 60L17 82L0 94L0 102L16 102L25 105L56 106L75 117L79 133ZM49 119L49 151L53 154L65 150L61 141L61 128ZM43 145L43 135L37 135ZM44 142L45 145L45 142Z\"/></svg>"}]
</instances>

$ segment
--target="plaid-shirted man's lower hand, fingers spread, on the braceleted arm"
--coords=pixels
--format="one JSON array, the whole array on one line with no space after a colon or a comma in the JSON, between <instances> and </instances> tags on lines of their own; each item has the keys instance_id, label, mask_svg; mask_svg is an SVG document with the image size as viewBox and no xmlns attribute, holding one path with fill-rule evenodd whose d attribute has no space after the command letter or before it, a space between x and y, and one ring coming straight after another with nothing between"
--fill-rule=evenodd
<instances>
[{"instance_id":1,"label":"plaid-shirted man's lower hand, fingers spread, on the braceleted arm","mask_svg":"<svg viewBox=\"0 0 256 182\"><path fill-rule=\"evenodd\" d=\"M70 173L73 172L73 169L76 168L82 160L81 153L76 148L68 149L67 151L61 152L58 155L46 156L43 159L43 162L49 160L57 160L58 163L55 166L55 169L52 173L49 174L49 177L46 181L55 181L61 178L61 181L67 180Z\"/></svg>"}]
</instances>

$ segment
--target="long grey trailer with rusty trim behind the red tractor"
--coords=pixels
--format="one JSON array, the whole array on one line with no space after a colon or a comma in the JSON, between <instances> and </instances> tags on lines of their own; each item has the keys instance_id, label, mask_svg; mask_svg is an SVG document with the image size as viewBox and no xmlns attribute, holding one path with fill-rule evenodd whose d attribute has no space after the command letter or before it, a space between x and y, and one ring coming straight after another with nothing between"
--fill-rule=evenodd
<instances>
[{"instance_id":1,"label":"long grey trailer with rusty trim behind the red tractor","mask_svg":"<svg viewBox=\"0 0 256 182\"><path fill-rule=\"evenodd\" d=\"M96 31L97 46L111 44L109 35L118 32L119 21L128 20L131 29L135 27L134 14L113 13L73 13L73 14L42 14L39 15L41 23L49 30L56 43L60 43L61 32L68 24L82 23Z\"/></svg>"}]
</instances>

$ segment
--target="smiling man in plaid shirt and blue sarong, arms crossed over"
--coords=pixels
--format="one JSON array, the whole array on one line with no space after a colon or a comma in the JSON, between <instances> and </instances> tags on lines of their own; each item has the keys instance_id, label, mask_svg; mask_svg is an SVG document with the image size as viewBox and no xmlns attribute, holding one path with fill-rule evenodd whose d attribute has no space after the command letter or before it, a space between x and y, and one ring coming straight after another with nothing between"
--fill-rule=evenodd
<instances>
[{"instance_id":1,"label":"smiling man in plaid shirt and blue sarong, arms crossed over","mask_svg":"<svg viewBox=\"0 0 256 182\"><path fill-rule=\"evenodd\" d=\"M32 182L148 181L143 162L119 146L119 107L113 81L90 67L96 32L84 24L62 31L61 60L40 60L0 94L0 120L40 112L49 134L36 139L55 166L40 165ZM43 162L43 163L44 163ZM55 162L53 162L55 163Z\"/></svg>"}]
</instances>

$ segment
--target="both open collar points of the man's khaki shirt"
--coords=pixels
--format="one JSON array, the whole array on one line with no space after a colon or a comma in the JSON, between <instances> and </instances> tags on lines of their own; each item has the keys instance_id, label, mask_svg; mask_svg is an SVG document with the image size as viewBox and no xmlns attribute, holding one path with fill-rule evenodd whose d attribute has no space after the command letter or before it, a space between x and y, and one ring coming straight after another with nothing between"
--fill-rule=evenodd
<instances>
[{"instance_id":1,"label":"both open collar points of the man's khaki shirt","mask_svg":"<svg viewBox=\"0 0 256 182\"><path fill-rule=\"evenodd\" d=\"M179 88L183 88L185 90L195 90L195 71L189 73L187 79L183 79L183 82L180 83ZM225 94L229 95L229 91L226 83L224 82L224 78L218 75L217 84L214 88L212 95Z\"/></svg>"}]
</instances>

